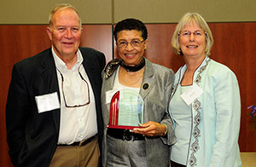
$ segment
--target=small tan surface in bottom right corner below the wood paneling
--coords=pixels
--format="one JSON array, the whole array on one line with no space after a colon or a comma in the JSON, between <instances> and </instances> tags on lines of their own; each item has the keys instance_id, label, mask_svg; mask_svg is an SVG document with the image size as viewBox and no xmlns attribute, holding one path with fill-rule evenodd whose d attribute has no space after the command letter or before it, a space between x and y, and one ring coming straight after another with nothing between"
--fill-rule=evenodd
<instances>
[{"instance_id":1,"label":"small tan surface in bottom right corner below the wood paneling","mask_svg":"<svg viewBox=\"0 0 256 167\"><path fill-rule=\"evenodd\" d=\"M256 153L247 152L240 153L242 167L256 167Z\"/></svg>"}]
</instances>

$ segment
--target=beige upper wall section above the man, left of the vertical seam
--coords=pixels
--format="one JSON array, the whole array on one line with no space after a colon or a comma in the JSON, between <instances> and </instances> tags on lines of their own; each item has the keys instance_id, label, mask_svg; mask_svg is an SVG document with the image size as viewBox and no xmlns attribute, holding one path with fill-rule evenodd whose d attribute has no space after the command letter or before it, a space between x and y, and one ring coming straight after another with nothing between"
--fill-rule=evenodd
<instances>
[{"instance_id":1,"label":"beige upper wall section above the man, left of the vertical seam","mask_svg":"<svg viewBox=\"0 0 256 167\"><path fill-rule=\"evenodd\" d=\"M1 0L0 24L48 24L50 10L59 3L78 9L84 24L112 22L111 0Z\"/></svg>"}]
</instances>

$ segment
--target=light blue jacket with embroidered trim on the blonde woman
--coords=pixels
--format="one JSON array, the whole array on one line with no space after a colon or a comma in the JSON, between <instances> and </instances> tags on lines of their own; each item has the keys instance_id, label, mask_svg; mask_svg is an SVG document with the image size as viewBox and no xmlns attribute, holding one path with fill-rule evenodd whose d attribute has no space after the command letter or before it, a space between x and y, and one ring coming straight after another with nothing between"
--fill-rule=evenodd
<instances>
[{"instance_id":1,"label":"light blue jacket with embroidered trim on the blonde woman","mask_svg":"<svg viewBox=\"0 0 256 167\"><path fill-rule=\"evenodd\" d=\"M186 69L185 65L177 71L175 89ZM227 66L206 57L194 73L195 83L204 92L192 102L187 166L241 166L241 101L236 75Z\"/></svg>"}]
</instances>

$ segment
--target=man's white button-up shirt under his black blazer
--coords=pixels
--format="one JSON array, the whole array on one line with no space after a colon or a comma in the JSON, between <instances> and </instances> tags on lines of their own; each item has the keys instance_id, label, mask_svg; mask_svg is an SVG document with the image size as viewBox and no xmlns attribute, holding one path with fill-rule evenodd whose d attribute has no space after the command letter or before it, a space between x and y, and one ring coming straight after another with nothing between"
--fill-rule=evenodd
<instances>
[{"instance_id":1,"label":"man's white button-up shirt under his black blazer","mask_svg":"<svg viewBox=\"0 0 256 167\"><path fill-rule=\"evenodd\" d=\"M77 52L77 62L68 70L66 64L55 54L54 55L56 72L58 77L60 95L61 95L61 124L60 135L58 144L72 144L75 141L82 141L88 139L97 134L97 122L96 122L96 104L95 97L90 85L89 78L82 65L83 57L80 50ZM84 80L80 77L79 72L83 76ZM62 79L63 91L67 102L66 107L62 93ZM90 93L88 95L88 89ZM73 107L75 105L83 105L89 101L90 104L84 107Z\"/></svg>"}]
</instances>

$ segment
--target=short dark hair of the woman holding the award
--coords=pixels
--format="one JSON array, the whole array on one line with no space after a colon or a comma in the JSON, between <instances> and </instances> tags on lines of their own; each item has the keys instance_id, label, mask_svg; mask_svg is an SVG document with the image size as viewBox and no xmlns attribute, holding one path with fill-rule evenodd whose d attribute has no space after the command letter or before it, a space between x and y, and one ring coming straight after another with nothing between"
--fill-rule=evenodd
<instances>
[{"instance_id":1,"label":"short dark hair of the woman holding the award","mask_svg":"<svg viewBox=\"0 0 256 167\"><path fill-rule=\"evenodd\" d=\"M137 19L125 19L119 21L116 26L114 26L113 36L115 41L117 41L117 34L123 30L137 30L138 32L142 32L143 40L148 38L148 30L147 27L141 20Z\"/></svg>"}]
</instances>

